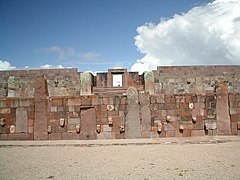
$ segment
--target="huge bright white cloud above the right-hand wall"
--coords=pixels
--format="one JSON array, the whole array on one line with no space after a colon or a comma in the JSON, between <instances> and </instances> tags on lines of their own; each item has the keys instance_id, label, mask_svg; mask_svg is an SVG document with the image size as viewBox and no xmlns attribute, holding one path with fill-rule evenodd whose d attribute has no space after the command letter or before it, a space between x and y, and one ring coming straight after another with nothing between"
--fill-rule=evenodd
<instances>
[{"instance_id":1,"label":"huge bright white cloud above the right-hand wall","mask_svg":"<svg viewBox=\"0 0 240 180\"><path fill-rule=\"evenodd\" d=\"M216 0L159 24L137 28L144 54L132 66L143 72L159 65L240 64L240 1Z\"/></svg>"}]
</instances>

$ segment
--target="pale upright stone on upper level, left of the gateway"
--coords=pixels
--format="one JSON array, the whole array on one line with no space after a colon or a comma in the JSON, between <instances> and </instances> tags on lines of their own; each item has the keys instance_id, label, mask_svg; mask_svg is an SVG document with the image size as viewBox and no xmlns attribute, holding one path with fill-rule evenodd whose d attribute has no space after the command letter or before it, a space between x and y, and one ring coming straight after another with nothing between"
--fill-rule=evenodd
<instances>
[{"instance_id":1,"label":"pale upright stone on upper level, left of the gateway","mask_svg":"<svg viewBox=\"0 0 240 180\"><path fill-rule=\"evenodd\" d=\"M93 75L89 72L80 74L80 95L92 95Z\"/></svg>"}]
</instances>

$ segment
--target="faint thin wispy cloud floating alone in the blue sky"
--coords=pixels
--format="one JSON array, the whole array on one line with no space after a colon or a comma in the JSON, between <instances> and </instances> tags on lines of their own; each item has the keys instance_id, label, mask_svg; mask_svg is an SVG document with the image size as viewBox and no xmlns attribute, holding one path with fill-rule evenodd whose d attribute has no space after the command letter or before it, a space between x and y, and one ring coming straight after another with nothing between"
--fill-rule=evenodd
<instances>
[{"instance_id":1,"label":"faint thin wispy cloud floating alone in the blue sky","mask_svg":"<svg viewBox=\"0 0 240 180\"><path fill-rule=\"evenodd\" d=\"M100 56L97 52L77 52L75 48L63 48L60 46L51 46L47 48L40 48L34 51L35 53L57 53L60 60L68 57L78 57L83 59L94 59Z\"/></svg>"}]
</instances>

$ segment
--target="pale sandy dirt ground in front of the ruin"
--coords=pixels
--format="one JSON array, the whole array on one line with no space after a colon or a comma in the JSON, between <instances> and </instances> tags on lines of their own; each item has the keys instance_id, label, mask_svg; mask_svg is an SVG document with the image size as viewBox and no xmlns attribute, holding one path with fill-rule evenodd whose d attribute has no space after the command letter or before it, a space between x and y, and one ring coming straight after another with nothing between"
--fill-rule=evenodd
<instances>
[{"instance_id":1,"label":"pale sandy dirt ground in front of the ruin","mask_svg":"<svg viewBox=\"0 0 240 180\"><path fill-rule=\"evenodd\" d=\"M239 178L239 141L0 148L0 179Z\"/></svg>"}]
</instances>

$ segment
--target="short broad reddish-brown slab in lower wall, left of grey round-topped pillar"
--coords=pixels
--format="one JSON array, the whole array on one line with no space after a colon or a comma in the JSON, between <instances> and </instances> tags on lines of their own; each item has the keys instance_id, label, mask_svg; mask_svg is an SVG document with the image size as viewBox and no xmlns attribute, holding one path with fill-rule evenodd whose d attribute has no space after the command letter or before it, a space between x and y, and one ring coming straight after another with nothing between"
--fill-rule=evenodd
<instances>
[{"instance_id":1,"label":"short broad reddish-brown slab in lower wall, left of grey round-topped pillar","mask_svg":"<svg viewBox=\"0 0 240 180\"><path fill-rule=\"evenodd\" d=\"M97 120L96 112L93 107L81 107L80 109L80 139L91 140L97 139Z\"/></svg>"}]
</instances>

